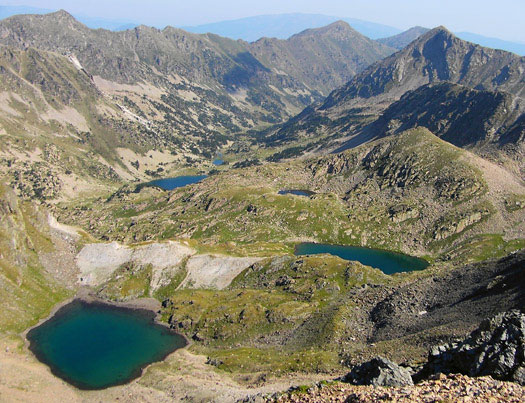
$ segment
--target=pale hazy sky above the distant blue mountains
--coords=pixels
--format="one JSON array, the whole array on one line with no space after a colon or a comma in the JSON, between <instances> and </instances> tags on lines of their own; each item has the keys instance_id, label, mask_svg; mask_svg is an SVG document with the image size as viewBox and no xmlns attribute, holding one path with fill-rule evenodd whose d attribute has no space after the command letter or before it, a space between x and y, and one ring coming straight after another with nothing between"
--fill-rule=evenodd
<instances>
[{"instance_id":1,"label":"pale hazy sky above the distant blue mountains","mask_svg":"<svg viewBox=\"0 0 525 403\"><path fill-rule=\"evenodd\" d=\"M63 8L155 26L302 12L360 18L401 29L445 25L456 32L525 42L525 0L0 0L0 4Z\"/></svg>"}]
</instances>

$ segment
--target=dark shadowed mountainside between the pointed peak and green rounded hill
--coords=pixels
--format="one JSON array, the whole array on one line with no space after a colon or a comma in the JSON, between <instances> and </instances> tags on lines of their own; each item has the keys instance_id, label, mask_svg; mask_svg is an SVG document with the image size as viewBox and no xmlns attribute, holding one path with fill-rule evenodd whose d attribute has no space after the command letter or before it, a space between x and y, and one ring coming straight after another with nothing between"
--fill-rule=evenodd
<instances>
[{"instance_id":1,"label":"dark shadowed mountainside between the pointed peak and green rounded hill","mask_svg":"<svg viewBox=\"0 0 525 403\"><path fill-rule=\"evenodd\" d=\"M449 82L428 84L394 102L369 130L389 133L424 126L459 147L505 142L504 133L520 117L523 102L505 92Z\"/></svg>"}]
</instances>

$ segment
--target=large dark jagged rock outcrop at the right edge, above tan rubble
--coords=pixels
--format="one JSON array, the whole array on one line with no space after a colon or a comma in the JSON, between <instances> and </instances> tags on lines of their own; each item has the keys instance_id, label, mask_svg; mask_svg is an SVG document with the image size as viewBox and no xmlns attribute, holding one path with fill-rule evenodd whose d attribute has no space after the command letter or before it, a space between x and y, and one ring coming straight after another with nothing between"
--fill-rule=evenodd
<instances>
[{"instance_id":1,"label":"large dark jagged rock outcrop at the right edge, above tan rubble","mask_svg":"<svg viewBox=\"0 0 525 403\"><path fill-rule=\"evenodd\" d=\"M487 319L465 340L436 346L418 378L462 373L525 385L525 314L512 310Z\"/></svg>"}]
</instances>

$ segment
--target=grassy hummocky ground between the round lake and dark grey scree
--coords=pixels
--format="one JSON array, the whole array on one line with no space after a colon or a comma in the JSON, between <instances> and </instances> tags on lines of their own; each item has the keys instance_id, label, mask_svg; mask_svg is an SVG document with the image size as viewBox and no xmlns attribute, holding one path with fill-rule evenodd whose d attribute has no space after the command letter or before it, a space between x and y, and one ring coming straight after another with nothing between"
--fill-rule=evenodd
<instances>
[{"instance_id":1,"label":"grassy hummocky ground between the round lake and dark grey scree","mask_svg":"<svg viewBox=\"0 0 525 403\"><path fill-rule=\"evenodd\" d=\"M348 291L390 281L333 256L280 256L254 264L228 290L174 292L162 319L226 371L329 372L340 368L338 342L350 337Z\"/></svg>"}]
</instances>

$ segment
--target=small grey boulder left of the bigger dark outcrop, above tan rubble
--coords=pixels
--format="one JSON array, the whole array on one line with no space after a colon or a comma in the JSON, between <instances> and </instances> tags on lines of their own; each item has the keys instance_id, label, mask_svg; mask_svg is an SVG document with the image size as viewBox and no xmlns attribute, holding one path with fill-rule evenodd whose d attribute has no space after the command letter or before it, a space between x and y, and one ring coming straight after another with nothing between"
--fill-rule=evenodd
<instances>
[{"instance_id":1,"label":"small grey boulder left of the bigger dark outcrop, above tan rubble","mask_svg":"<svg viewBox=\"0 0 525 403\"><path fill-rule=\"evenodd\" d=\"M343 378L343 382L373 386L408 386L414 384L408 369L382 357L355 366Z\"/></svg>"}]
</instances>

